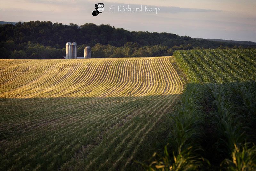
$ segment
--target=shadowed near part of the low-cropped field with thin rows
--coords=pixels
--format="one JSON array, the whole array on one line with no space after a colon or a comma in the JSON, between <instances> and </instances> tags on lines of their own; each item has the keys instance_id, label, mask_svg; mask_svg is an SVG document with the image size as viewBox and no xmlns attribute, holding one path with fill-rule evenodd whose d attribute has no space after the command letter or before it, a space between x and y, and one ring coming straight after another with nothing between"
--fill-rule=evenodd
<instances>
[{"instance_id":1,"label":"shadowed near part of the low-cropped field with thin rows","mask_svg":"<svg viewBox=\"0 0 256 171\"><path fill-rule=\"evenodd\" d=\"M0 170L141 170L133 159L161 151L179 98L0 98Z\"/></svg>"}]
</instances>

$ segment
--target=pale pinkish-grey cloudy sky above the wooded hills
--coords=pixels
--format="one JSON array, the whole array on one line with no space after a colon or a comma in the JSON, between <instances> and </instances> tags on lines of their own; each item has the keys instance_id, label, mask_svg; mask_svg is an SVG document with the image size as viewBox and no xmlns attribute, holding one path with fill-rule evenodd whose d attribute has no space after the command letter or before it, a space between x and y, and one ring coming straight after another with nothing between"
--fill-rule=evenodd
<instances>
[{"instance_id":1,"label":"pale pinkish-grey cloudy sky above the wooded hills","mask_svg":"<svg viewBox=\"0 0 256 171\"><path fill-rule=\"evenodd\" d=\"M93 17L94 4L99 2L104 3L104 11ZM256 41L255 0L0 0L0 21L36 20Z\"/></svg>"}]
</instances>

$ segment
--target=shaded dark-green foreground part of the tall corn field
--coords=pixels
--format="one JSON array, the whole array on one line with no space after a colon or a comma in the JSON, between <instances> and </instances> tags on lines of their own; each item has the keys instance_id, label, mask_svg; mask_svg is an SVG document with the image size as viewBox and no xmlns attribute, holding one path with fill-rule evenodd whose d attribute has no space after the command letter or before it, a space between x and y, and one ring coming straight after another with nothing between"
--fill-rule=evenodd
<instances>
[{"instance_id":1,"label":"shaded dark-green foreground part of the tall corn field","mask_svg":"<svg viewBox=\"0 0 256 171\"><path fill-rule=\"evenodd\" d=\"M255 81L187 84L177 109L176 127L170 130L168 140L169 154L174 152L177 158L181 150L184 156L199 156L199 164L196 160L190 163L195 168L199 166L199 170L253 168L251 163L256 161L253 157L256 154ZM173 167L173 156L168 159Z\"/></svg>"}]
</instances>

